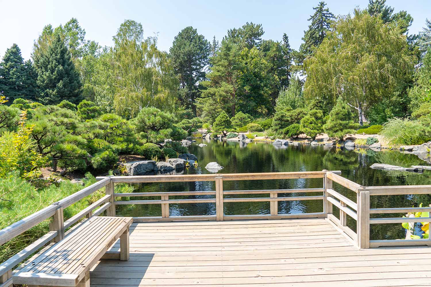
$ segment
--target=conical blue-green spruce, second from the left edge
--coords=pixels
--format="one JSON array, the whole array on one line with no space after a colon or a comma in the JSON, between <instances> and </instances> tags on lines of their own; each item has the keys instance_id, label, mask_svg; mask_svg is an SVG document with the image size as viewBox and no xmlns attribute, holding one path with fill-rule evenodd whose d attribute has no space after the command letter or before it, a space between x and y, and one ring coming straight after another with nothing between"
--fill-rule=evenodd
<instances>
[{"instance_id":1,"label":"conical blue-green spruce, second from the left edge","mask_svg":"<svg viewBox=\"0 0 431 287\"><path fill-rule=\"evenodd\" d=\"M59 35L55 35L46 53L34 62L37 84L41 89L40 102L58 104L63 99L78 104L81 99L81 80L69 51Z\"/></svg>"}]
</instances>

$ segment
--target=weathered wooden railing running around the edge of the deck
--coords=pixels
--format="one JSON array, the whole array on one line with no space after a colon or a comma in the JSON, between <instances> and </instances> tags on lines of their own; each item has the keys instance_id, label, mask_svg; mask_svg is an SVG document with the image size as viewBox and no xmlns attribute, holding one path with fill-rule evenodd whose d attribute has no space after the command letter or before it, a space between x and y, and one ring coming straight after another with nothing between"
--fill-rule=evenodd
<instances>
[{"instance_id":1,"label":"weathered wooden railing running around the edge of the deck","mask_svg":"<svg viewBox=\"0 0 431 287\"><path fill-rule=\"evenodd\" d=\"M16 253L0 265L0 287L12 286L12 269L22 260L33 254L49 242L58 242L73 228L75 223L82 218L98 216L106 210L107 216L116 216L116 205L120 204L161 204L162 216L134 217L134 221L173 221L173 220L233 220L233 219L287 219L287 218L327 218L349 236L360 248L394 246L394 245L428 245L430 239L417 240L372 240L370 241L370 224L401 223L401 222L431 222L430 218L370 218L371 213L404 213L416 211L431 211L431 207L422 208L377 208L370 209L370 196L393 194L431 194L431 185L407 185L407 186L374 186L365 187L352 182L339 175L339 171L311 171L288 173L240 173L240 174L205 174L205 175L169 175L169 176L109 176L98 177L98 182L83 188L62 200L45 207L26 218L13 223L0 230L0 245L10 241L23 232L29 230L42 221L52 218L50 231ZM224 190L223 182L238 180L262 180L262 179L312 179L321 178L321 188L294 188L294 189L262 189L262 190ZM201 182L214 181L215 191L162 191L162 192L134 192L114 193L115 183L144 183L144 182ZM340 194L333 187L337 183L348 191L356 193L356 202ZM63 210L88 195L105 188L106 195L94 202L84 210L72 216L68 220L63 218ZM279 196L280 194L321 192L321 195L311 196ZM258 198L226 198L225 195L237 194L269 194L269 197ZM199 199L169 199L171 196L210 195L213 198ZM121 197L146 197L159 196L160 200L127 200L116 201ZM279 214L278 201L305 201L322 200L323 212ZM228 202L269 202L270 214L253 215L225 215L224 203ZM206 216L170 216L169 204L184 203L213 203L215 215ZM340 216L333 215L333 207L340 210ZM356 232L347 226L347 216L356 220ZM69 231L66 229L69 228Z\"/></svg>"}]
</instances>

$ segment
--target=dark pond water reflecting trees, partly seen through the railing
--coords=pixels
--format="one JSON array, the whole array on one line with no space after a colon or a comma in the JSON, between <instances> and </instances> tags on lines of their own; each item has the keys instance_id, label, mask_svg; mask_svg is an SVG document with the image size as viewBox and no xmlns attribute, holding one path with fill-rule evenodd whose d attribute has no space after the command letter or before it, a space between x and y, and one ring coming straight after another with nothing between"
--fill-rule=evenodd
<instances>
[{"instance_id":1,"label":"dark pond water reflecting trees, partly seen through the railing","mask_svg":"<svg viewBox=\"0 0 431 287\"><path fill-rule=\"evenodd\" d=\"M203 142L207 146L201 148L196 144ZM328 146L289 145L276 147L266 142L222 142L216 140L197 139L189 146L189 152L198 158L198 167L189 167L181 174L206 174L206 164L215 161L224 169L219 173L272 173L290 171L321 171L341 170L341 175L360 185L431 185L431 171L410 173L399 171L374 170L374 163L392 164L402 167L412 165L429 165L414 154L400 151L359 150L347 151ZM249 180L224 181L224 190L252 189L288 189L288 188L321 188L322 179L280 179L280 180ZM356 202L356 194L334 183L334 189ZM166 182L145 183L135 185L136 192L151 191L213 191L215 182ZM280 194L280 196L319 195L314 193ZM177 198L211 198L208 195L169 197ZM228 197L228 196L225 196ZM232 197L269 197L269 194L250 194ZM136 197L132 200L160 199L160 197ZM431 195L391 195L372 196L371 208L412 207L431 204ZM282 213L315 213L322 212L322 201L279 201L278 212ZM269 202L234 202L224 204L225 215L238 214L270 214ZM334 207L334 215L338 216ZM119 205L117 213L122 216L161 216L160 204ZM215 204L169 204L171 216L215 215ZM374 215L380 217L400 217L403 214ZM356 221L347 216L347 225L356 230ZM371 225L370 239L401 239L405 237L405 229L397 224Z\"/></svg>"}]
</instances>

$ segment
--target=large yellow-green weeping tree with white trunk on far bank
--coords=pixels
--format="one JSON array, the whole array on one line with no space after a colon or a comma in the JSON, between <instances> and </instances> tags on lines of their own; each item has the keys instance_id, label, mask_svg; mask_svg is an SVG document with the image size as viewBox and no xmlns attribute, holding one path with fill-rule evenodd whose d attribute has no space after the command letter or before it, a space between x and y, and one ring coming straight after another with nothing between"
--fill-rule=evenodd
<instances>
[{"instance_id":1,"label":"large yellow-green weeping tree with white trunk on far bank","mask_svg":"<svg viewBox=\"0 0 431 287\"><path fill-rule=\"evenodd\" d=\"M339 96L363 113L412 79L416 57L397 25L356 9L339 19L315 54L304 62L304 97L334 105Z\"/></svg>"}]
</instances>

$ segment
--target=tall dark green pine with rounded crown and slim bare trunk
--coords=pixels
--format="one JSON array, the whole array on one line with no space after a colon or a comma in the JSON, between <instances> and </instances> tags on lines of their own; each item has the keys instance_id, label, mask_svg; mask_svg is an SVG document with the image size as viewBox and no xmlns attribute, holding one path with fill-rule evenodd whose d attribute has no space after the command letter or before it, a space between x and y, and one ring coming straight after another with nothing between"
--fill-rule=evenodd
<instances>
[{"instance_id":1,"label":"tall dark green pine with rounded crown and slim bare trunk","mask_svg":"<svg viewBox=\"0 0 431 287\"><path fill-rule=\"evenodd\" d=\"M209 64L211 44L190 26L175 36L169 53L181 88L186 89L184 104L191 108L196 116L195 99L200 96L198 84L206 77L205 68Z\"/></svg>"}]
</instances>

